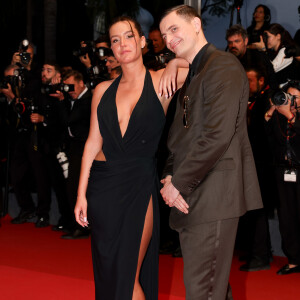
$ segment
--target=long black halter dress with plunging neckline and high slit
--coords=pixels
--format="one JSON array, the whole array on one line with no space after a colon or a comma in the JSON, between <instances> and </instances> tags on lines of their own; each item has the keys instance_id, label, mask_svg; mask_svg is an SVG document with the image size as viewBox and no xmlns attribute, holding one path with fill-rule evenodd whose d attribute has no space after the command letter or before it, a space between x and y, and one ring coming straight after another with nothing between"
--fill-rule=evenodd
<instances>
[{"instance_id":1,"label":"long black halter dress with plunging neckline and high slit","mask_svg":"<svg viewBox=\"0 0 300 300\"><path fill-rule=\"evenodd\" d=\"M153 232L141 271L147 300L158 299L159 212L155 154L165 114L146 70L144 87L122 137L116 106L119 76L97 116L106 161L94 161L87 188L97 300L131 300L141 237L152 196Z\"/></svg>"}]
</instances>

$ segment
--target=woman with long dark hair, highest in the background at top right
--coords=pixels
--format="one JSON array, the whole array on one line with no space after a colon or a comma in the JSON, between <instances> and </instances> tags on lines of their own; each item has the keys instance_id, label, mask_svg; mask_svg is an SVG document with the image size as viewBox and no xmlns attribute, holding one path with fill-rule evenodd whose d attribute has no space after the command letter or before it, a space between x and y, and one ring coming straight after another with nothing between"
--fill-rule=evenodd
<instances>
[{"instance_id":1,"label":"woman with long dark hair, highest in the background at top right","mask_svg":"<svg viewBox=\"0 0 300 300\"><path fill-rule=\"evenodd\" d=\"M260 36L269 27L271 22L271 11L266 5L259 4L255 7L252 23L247 28L249 48L256 48L253 43L260 41Z\"/></svg>"}]
</instances>

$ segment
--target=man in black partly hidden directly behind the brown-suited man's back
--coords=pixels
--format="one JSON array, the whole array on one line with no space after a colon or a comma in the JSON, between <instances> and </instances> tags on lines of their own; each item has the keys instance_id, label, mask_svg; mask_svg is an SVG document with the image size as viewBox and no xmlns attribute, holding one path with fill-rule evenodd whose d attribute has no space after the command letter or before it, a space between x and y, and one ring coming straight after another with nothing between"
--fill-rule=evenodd
<instances>
[{"instance_id":1,"label":"man in black partly hidden directly behind the brown-suited man's back","mask_svg":"<svg viewBox=\"0 0 300 300\"><path fill-rule=\"evenodd\" d=\"M244 242L247 255L246 263L240 267L241 271L260 271L270 268L271 242L269 234L268 213L274 206L276 193L272 188L275 177L272 164L271 149L264 130L264 115L270 106L269 86L263 69L249 67L246 69L249 80L248 105L248 135L251 143L263 209L247 212L239 224L237 240ZM238 243L237 243L238 244ZM242 260L242 257L240 258Z\"/></svg>"}]
</instances>

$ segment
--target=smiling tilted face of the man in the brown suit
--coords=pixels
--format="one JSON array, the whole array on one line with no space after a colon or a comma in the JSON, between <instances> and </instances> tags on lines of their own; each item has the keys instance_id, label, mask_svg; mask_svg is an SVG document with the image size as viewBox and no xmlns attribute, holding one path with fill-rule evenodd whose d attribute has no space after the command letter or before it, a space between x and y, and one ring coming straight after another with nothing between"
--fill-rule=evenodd
<instances>
[{"instance_id":1,"label":"smiling tilted face of the man in the brown suit","mask_svg":"<svg viewBox=\"0 0 300 300\"><path fill-rule=\"evenodd\" d=\"M199 30L194 19L186 20L178 16L175 11L160 22L160 31L167 48L173 51L177 57L185 58L188 61L196 54L194 51Z\"/></svg>"}]
</instances>

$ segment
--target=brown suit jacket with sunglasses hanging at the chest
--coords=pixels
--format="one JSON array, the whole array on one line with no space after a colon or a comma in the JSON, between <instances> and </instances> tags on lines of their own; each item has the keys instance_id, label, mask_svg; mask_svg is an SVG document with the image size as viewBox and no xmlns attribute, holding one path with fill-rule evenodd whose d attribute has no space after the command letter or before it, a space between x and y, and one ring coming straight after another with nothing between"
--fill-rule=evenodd
<instances>
[{"instance_id":1,"label":"brown suit jacket with sunglasses hanging at the chest","mask_svg":"<svg viewBox=\"0 0 300 300\"><path fill-rule=\"evenodd\" d=\"M183 126L183 98L188 128ZM177 100L170 129L165 174L189 204L189 214L172 208L175 229L235 218L262 207L248 139L249 83L236 57L209 45L189 86Z\"/></svg>"}]
</instances>

